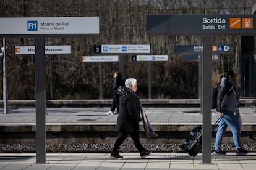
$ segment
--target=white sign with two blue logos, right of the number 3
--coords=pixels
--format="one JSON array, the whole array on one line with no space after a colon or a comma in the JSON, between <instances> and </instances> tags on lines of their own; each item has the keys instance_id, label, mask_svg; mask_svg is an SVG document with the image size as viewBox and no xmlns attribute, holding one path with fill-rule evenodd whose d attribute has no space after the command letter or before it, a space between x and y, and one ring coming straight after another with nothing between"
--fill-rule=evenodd
<instances>
[{"instance_id":1,"label":"white sign with two blue logos, right of the number 3","mask_svg":"<svg viewBox=\"0 0 256 170\"><path fill-rule=\"evenodd\" d=\"M150 53L150 45L101 45L101 53L147 54Z\"/></svg>"}]
</instances>

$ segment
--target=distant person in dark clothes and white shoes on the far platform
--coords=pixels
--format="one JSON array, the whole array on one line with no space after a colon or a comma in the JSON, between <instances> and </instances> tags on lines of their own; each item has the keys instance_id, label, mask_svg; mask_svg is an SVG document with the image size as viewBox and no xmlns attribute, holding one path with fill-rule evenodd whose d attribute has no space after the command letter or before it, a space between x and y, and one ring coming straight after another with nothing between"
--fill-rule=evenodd
<instances>
[{"instance_id":1,"label":"distant person in dark clothes and white shoes on the far platform","mask_svg":"<svg viewBox=\"0 0 256 170\"><path fill-rule=\"evenodd\" d=\"M114 72L114 83L113 83L113 100L110 111L107 115L113 115L119 113L119 95L117 94L117 88L119 86L124 86L124 80L122 79L122 74L119 71ZM117 108L117 111L114 110Z\"/></svg>"}]
</instances>

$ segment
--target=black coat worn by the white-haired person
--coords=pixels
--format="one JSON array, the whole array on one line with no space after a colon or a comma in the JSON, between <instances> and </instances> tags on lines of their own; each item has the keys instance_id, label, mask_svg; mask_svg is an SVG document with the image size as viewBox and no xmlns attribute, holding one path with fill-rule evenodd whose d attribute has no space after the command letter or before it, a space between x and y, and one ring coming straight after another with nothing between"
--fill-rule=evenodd
<instances>
[{"instance_id":1,"label":"black coat worn by the white-haired person","mask_svg":"<svg viewBox=\"0 0 256 170\"><path fill-rule=\"evenodd\" d=\"M119 115L117 118L116 131L132 133L139 131L139 122L142 121L140 117L140 103L132 92L124 86L117 89L120 97Z\"/></svg>"}]
</instances>

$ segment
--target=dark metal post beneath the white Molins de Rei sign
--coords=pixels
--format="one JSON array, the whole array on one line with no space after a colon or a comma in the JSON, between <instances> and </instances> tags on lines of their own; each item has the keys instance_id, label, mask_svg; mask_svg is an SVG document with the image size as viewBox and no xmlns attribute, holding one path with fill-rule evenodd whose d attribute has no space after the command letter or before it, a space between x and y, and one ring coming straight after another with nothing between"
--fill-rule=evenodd
<instances>
[{"instance_id":1,"label":"dark metal post beneath the white Molins de Rei sign","mask_svg":"<svg viewBox=\"0 0 256 170\"><path fill-rule=\"evenodd\" d=\"M46 163L45 39L35 38L36 163Z\"/></svg>"}]
</instances>

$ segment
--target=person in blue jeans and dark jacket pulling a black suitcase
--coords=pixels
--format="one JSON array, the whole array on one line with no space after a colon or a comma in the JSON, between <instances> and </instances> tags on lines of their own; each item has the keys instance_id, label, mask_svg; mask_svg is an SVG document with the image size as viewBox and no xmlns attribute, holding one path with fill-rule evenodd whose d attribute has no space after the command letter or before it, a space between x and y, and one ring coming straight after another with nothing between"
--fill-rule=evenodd
<instances>
[{"instance_id":1,"label":"person in blue jeans and dark jacket pulling a black suitcase","mask_svg":"<svg viewBox=\"0 0 256 170\"><path fill-rule=\"evenodd\" d=\"M224 156L226 152L221 150L221 140L229 126L236 146L236 155L246 155L249 153L244 150L240 140L239 121L237 121L236 111L238 110L238 95L236 90L236 74L234 71L227 71L225 76L221 76L220 87L218 87L216 115L221 117L215 139L215 151L213 155Z\"/></svg>"}]
</instances>

